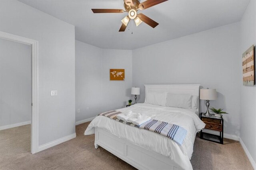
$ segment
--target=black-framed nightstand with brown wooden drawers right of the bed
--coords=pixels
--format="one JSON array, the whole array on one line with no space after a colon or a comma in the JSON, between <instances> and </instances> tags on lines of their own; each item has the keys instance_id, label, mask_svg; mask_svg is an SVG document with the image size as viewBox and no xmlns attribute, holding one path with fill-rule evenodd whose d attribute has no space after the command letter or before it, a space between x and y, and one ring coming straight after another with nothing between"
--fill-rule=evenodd
<instances>
[{"instance_id":1,"label":"black-framed nightstand with brown wooden drawers right of the bed","mask_svg":"<svg viewBox=\"0 0 256 170\"><path fill-rule=\"evenodd\" d=\"M217 131L220 133L220 135L212 135L210 133L202 132L202 130L201 130L200 138L207 140L207 141L220 143L223 145L224 119L222 117L216 117L213 114L211 117L205 116L204 113L200 114L200 119L206 124L204 129L210 129L210 130Z\"/></svg>"}]
</instances>

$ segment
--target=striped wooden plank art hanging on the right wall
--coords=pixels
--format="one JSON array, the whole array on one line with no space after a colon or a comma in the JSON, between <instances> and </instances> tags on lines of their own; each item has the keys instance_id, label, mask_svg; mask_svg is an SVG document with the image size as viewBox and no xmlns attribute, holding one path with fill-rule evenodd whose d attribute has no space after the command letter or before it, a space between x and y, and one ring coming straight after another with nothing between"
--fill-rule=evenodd
<instances>
[{"instance_id":1,"label":"striped wooden plank art hanging on the right wall","mask_svg":"<svg viewBox=\"0 0 256 170\"><path fill-rule=\"evenodd\" d=\"M255 68L254 68L254 45L243 53L243 85L254 86L255 84Z\"/></svg>"}]
</instances>

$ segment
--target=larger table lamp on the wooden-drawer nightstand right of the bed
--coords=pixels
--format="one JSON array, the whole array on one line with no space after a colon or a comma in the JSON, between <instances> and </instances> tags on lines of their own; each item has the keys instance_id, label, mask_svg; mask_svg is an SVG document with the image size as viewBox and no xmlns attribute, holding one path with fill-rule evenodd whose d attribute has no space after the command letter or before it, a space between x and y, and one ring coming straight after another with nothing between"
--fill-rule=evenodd
<instances>
[{"instance_id":1,"label":"larger table lamp on the wooden-drawer nightstand right of the bed","mask_svg":"<svg viewBox=\"0 0 256 170\"><path fill-rule=\"evenodd\" d=\"M209 112L210 100L217 99L216 89L200 89L200 99L206 100L207 111L204 113L205 116L212 116Z\"/></svg>"}]
</instances>

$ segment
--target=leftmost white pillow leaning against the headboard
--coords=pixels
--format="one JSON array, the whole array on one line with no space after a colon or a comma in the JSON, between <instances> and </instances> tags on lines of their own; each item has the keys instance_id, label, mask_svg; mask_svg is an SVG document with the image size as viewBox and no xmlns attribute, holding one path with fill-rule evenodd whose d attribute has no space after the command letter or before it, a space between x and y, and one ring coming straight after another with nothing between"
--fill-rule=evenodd
<instances>
[{"instance_id":1,"label":"leftmost white pillow leaning against the headboard","mask_svg":"<svg viewBox=\"0 0 256 170\"><path fill-rule=\"evenodd\" d=\"M145 103L165 106L167 92L148 92Z\"/></svg>"}]
</instances>

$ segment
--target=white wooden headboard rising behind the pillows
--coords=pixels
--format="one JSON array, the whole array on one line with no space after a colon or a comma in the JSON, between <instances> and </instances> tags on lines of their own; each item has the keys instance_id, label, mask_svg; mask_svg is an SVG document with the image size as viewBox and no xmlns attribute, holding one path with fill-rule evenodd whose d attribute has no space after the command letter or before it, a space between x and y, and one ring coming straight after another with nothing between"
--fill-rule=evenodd
<instances>
[{"instance_id":1,"label":"white wooden headboard rising behind the pillows","mask_svg":"<svg viewBox=\"0 0 256 170\"><path fill-rule=\"evenodd\" d=\"M197 108L199 112L200 84L145 84L145 100L148 92L170 92L173 94L190 94L198 96Z\"/></svg>"}]
</instances>

